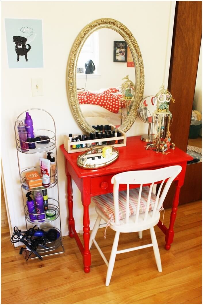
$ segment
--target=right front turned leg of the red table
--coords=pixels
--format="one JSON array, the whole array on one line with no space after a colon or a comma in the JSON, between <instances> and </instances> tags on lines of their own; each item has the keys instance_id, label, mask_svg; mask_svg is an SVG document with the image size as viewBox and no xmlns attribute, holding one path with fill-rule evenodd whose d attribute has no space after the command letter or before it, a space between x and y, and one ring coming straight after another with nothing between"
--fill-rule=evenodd
<instances>
[{"instance_id":1,"label":"right front turned leg of the red table","mask_svg":"<svg viewBox=\"0 0 203 305\"><path fill-rule=\"evenodd\" d=\"M175 190L175 195L174 195L174 199L173 199L172 211L170 214L170 224L169 224L169 228L166 232L166 237L165 237L165 242L166 242L165 249L166 250L170 249L170 245L174 239L174 223L175 223L175 219L176 219L176 215L177 215L177 207L178 207L178 203L179 203L179 195L180 195L180 189L181 189L181 186L178 186L177 183L178 183L178 181L175 181L176 190Z\"/></svg>"}]
</instances>

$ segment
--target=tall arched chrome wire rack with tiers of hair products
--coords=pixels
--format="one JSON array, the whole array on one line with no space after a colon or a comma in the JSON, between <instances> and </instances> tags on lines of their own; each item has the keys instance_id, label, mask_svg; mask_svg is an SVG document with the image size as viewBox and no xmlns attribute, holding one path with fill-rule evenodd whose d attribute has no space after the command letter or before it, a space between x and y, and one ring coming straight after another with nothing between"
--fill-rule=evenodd
<instances>
[{"instance_id":1,"label":"tall arched chrome wire rack with tiers of hair products","mask_svg":"<svg viewBox=\"0 0 203 305\"><path fill-rule=\"evenodd\" d=\"M50 140L49 143L44 143L45 141L43 141L43 140L39 141L39 139L35 142L32 142L32 143L35 143L35 146L36 146L36 148L34 148L34 149L22 149L21 142L24 142L28 145L30 144L30 142L20 141L18 128L17 128L17 125L18 125L17 120L19 118L24 118L26 112L28 112L28 111L30 112L31 115L35 114L35 115L37 115L37 117L42 118L43 121L45 121L45 122L46 122L46 118L47 118L47 120L49 119L49 121L51 122L50 124L53 127L53 131L48 130L48 129L36 129L36 122L33 120L34 130L36 131L35 135L45 134L49 137L49 140ZM50 117L48 118L47 116L50 116ZM38 228L43 229L44 231L48 231L51 228L56 229L60 233L60 237L57 240L55 240L54 242L47 241L46 242L46 247L47 247L46 249L38 246L36 251L40 254L41 257L46 257L46 256L54 255L54 254L64 253L64 246L63 246L62 237L61 237L58 170L57 170L57 149L56 149L56 126L55 126L54 119L50 115L50 113L48 113L46 110L39 109L39 108L27 109L17 117L17 119L15 121L14 129L15 129L15 143L16 143L16 149L17 149L19 176L20 176L21 191L22 191L22 201L23 201L24 213L25 213L26 229L28 230L28 228L34 227L35 225ZM40 142L42 142L43 144L40 143ZM27 167L25 169L24 164L23 164L23 170L21 170L21 164L20 163L22 162L22 159L19 158L19 153L24 154L23 155L24 156L23 163L26 163L26 157L25 157L26 154L30 155L30 154L39 153L39 157L45 158L44 153L49 152L49 151L53 151L55 153L56 173L54 175L54 177L55 177L54 182L50 183L49 187L46 187L46 188L43 187L43 186L39 186L39 187L29 186L28 184L26 184L27 179L25 177L25 173L29 172L29 171L36 170L40 174L40 166ZM29 160L30 160L30 158L28 157L27 161L29 161ZM51 176L51 177L53 177L53 176ZM33 181L37 181L37 180L41 180L43 182L43 179L36 179L36 180L33 180ZM48 195L49 195L49 189L55 187L56 185L57 185L57 191L54 192L54 197L55 198L48 197L48 209L54 210L56 212L56 217L53 220L50 220L49 218L46 218L46 212L45 211L44 211L44 213L40 213L40 214L28 213L25 191L26 192L33 192L33 194L34 194L34 192L36 192L36 191L42 191L43 189L46 189L47 192L48 192ZM36 220L36 221L31 221L30 220L30 215L33 215L36 218L37 215L42 215L42 214L44 215L44 221L43 222L40 222L38 220ZM57 221L57 219L59 219L59 221ZM56 221L56 223L53 223L55 226L50 226L50 224L54 221ZM28 225L29 225L29 227L28 227ZM35 258L38 258L38 257L34 253L32 253L32 255L30 256L30 259L35 259Z\"/></svg>"}]
</instances>

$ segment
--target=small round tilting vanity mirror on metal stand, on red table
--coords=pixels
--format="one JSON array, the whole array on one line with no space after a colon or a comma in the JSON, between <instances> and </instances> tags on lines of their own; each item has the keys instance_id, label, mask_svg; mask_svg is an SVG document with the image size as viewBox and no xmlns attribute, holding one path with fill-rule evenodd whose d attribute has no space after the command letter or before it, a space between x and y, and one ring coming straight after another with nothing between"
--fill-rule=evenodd
<instances>
[{"instance_id":1,"label":"small round tilting vanity mirror on metal stand, on red table","mask_svg":"<svg viewBox=\"0 0 203 305\"><path fill-rule=\"evenodd\" d=\"M142 135L141 140L144 142L154 142L156 135L152 130L153 128L153 112L157 109L157 98L156 96L150 95L145 97L140 105L138 110L138 115L140 120L144 123L149 124L148 135Z\"/></svg>"}]
</instances>

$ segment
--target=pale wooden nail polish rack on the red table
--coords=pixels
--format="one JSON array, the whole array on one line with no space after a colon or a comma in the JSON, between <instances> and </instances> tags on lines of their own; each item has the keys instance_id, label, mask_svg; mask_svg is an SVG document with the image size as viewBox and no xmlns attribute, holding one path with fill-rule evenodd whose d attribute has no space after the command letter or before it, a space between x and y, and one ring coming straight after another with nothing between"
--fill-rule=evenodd
<instances>
[{"instance_id":1,"label":"pale wooden nail polish rack on the red table","mask_svg":"<svg viewBox=\"0 0 203 305\"><path fill-rule=\"evenodd\" d=\"M98 145L98 142L101 142L101 145L112 145L115 147L121 147L121 146L126 146L126 134L120 130L120 129L115 129L114 125L109 124L109 126L111 126L111 130L116 130L117 132L121 133L120 137L112 137L112 138L101 138L101 139L94 139L94 140L85 140L85 141L77 141L77 142L71 142L69 140L69 137L67 135L64 135L64 148L68 153L73 153L73 152L83 152L89 148L91 148L91 146L87 147L87 144L92 144L95 143L95 148L96 147L100 147L100 145ZM117 144L114 144L113 142L118 141ZM107 144L106 142L110 142L109 144ZM120 143L119 143L120 142ZM104 144L105 143L105 144ZM85 144L86 147L84 148L72 148L73 145L82 145Z\"/></svg>"}]
</instances>

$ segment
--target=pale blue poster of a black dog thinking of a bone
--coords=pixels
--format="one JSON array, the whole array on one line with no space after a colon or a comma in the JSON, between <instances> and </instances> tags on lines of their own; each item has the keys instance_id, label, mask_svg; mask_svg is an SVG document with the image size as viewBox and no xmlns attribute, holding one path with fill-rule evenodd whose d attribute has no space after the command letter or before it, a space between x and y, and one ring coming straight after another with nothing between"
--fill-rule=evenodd
<instances>
[{"instance_id":1,"label":"pale blue poster of a black dog thinking of a bone","mask_svg":"<svg viewBox=\"0 0 203 305\"><path fill-rule=\"evenodd\" d=\"M43 68L42 20L5 19L9 68Z\"/></svg>"}]
</instances>

